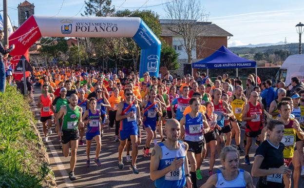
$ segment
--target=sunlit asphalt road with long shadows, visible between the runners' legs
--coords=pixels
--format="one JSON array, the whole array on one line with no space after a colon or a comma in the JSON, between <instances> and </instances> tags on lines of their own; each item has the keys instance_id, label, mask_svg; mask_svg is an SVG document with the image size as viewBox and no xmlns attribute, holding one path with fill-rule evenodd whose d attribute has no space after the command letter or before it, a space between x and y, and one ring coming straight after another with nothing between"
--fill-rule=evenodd
<instances>
[{"instance_id":1,"label":"sunlit asphalt road with long shadows, visible between the runners' legs","mask_svg":"<svg viewBox=\"0 0 304 188\"><path fill-rule=\"evenodd\" d=\"M40 119L40 109L37 108L38 96L40 95L40 90L35 89L34 98L35 102L31 104L32 111L35 111L35 119L40 131L41 137L43 138L42 124ZM49 137L49 141L44 143L49 154L50 164L54 171L56 182L58 188L155 188L153 181L150 179L149 158L143 157L141 149L143 148L143 143L145 143L146 134L142 131L142 144L139 146L139 153L136 165L139 170L139 174L135 175L129 170L129 164L125 162L126 152L123 153L123 160L125 167L120 170L117 165L117 148L118 143L114 142L114 128L110 130L105 129L101 141L101 151L100 151L100 162L101 167L97 167L92 161L91 167L86 167L86 145L78 146L77 149L77 163L75 167L76 180L70 181L68 178L68 173L70 171L70 157L63 157L62 151L59 149L59 141L57 134L54 132ZM243 140L245 130L241 129L241 140ZM85 140L85 137L84 137ZM253 141L254 143L254 141ZM232 143L234 144L234 139ZM152 144L153 145L153 144ZM95 141L92 142L91 147L91 160L95 157ZM254 144L250 149L250 161L253 162L254 152L257 146ZM222 167L218 156L216 156L216 162L213 172L216 172L216 168L220 169ZM240 168L250 172L252 165L248 166L244 163L244 153L241 153L240 157ZM208 169L209 169L209 157L205 159L201 166L202 170L202 180L198 180L197 185L203 185L208 179ZM254 185L256 185L258 178L253 178ZM293 187L293 186L292 186ZM304 188L304 178L301 177L299 188Z\"/></svg>"}]
</instances>

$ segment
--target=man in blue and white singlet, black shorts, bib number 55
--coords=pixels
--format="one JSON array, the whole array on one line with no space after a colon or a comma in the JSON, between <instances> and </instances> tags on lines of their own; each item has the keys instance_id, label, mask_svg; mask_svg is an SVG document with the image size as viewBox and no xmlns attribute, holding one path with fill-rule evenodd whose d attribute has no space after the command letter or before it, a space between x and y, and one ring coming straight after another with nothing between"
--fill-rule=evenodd
<instances>
[{"instance_id":1,"label":"man in blue and white singlet, black shorts, bib number 55","mask_svg":"<svg viewBox=\"0 0 304 188\"><path fill-rule=\"evenodd\" d=\"M189 145L187 157L190 161L190 174L193 188L196 185L196 164L201 164L202 149L204 147L204 134L209 131L209 125L206 117L201 112L198 112L200 107L200 100L198 98L191 98L189 101L191 112L184 116L181 121L181 137ZM200 168L200 167L198 167Z\"/></svg>"}]
</instances>

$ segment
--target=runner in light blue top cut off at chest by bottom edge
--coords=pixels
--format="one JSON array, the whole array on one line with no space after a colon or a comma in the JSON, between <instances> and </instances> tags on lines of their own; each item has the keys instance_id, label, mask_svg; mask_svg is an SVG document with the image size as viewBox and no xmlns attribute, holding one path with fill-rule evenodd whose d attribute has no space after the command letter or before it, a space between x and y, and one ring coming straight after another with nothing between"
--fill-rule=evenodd
<instances>
[{"instance_id":1,"label":"runner in light blue top cut off at chest by bottom edge","mask_svg":"<svg viewBox=\"0 0 304 188\"><path fill-rule=\"evenodd\" d=\"M220 159L225 169L210 176L201 188L254 188L249 172L238 168L240 154L237 146L225 146Z\"/></svg>"}]
</instances>

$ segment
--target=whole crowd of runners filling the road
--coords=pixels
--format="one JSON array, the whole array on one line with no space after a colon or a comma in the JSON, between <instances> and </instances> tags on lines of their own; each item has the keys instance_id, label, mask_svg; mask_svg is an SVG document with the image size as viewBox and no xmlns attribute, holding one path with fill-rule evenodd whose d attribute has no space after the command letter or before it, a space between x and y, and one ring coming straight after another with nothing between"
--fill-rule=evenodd
<instances>
[{"instance_id":1,"label":"whole crowd of runners filling the road","mask_svg":"<svg viewBox=\"0 0 304 188\"><path fill-rule=\"evenodd\" d=\"M304 85L298 78L292 78L290 89L283 82L274 88L271 80L258 78L257 84L255 80L249 75L243 87L239 78L224 74L212 82L199 72L180 77L168 71L163 79L148 72L139 78L133 72L69 67L41 67L32 73L33 84L42 90L37 106L43 139L47 142L56 131L64 156L71 153L71 180L76 180L77 146L86 145L86 167L93 161L101 166L103 130L115 127L119 169L130 164L132 173L138 174L136 158L143 155L151 160L150 177L156 188L290 188L291 178L294 188L300 188ZM241 140L242 126L246 131ZM142 132L146 138L139 150ZM258 148L250 159L253 141ZM217 172L216 153L223 164ZM238 167L243 153L251 172ZM207 156L209 179L197 185ZM252 177L259 177L255 186Z\"/></svg>"}]
</instances>

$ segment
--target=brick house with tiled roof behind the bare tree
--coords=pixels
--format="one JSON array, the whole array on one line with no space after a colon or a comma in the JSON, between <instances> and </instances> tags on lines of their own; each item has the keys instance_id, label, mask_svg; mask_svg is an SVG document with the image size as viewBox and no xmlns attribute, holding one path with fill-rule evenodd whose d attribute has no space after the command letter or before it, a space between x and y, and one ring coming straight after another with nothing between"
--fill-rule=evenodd
<instances>
[{"instance_id":1,"label":"brick house with tiled roof behind the bare tree","mask_svg":"<svg viewBox=\"0 0 304 188\"><path fill-rule=\"evenodd\" d=\"M191 71L191 65L188 64L188 55L183 46L184 40L174 32L174 27L177 30L179 22L174 20L159 20L162 29L161 39L171 45L180 54L178 57L180 63L179 71ZM222 45L227 47L228 40L233 36L225 29L209 21L195 21L195 24L202 32L197 36L195 47L192 49L192 62L205 59ZM181 72L179 73L181 74ZM184 71L184 73L186 72Z\"/></svg>"}]
</instances>

